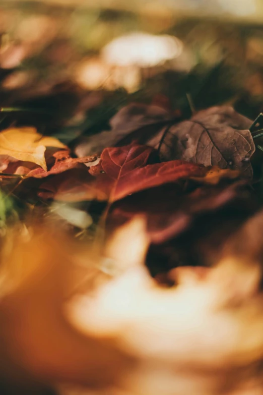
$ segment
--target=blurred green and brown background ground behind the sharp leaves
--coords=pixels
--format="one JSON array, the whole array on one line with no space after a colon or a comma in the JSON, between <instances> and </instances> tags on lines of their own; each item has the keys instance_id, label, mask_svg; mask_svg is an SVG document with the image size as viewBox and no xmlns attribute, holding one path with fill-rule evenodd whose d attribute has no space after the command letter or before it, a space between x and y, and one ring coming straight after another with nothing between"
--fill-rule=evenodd
<instances>
[{"instance_id":1,"label":"blurred green and brown background ground behind the sharp leaves","mask_svg":"<svg viewBox=\"0 0 263 395\"><path fill-rule=\"evenodd\" d=\"M3 113L1 128L70 142L130 101L181 118L224 102L263 110L261 0L2 0L0 33L0 105L36 111Z\"/></svg>"}]
</instances>

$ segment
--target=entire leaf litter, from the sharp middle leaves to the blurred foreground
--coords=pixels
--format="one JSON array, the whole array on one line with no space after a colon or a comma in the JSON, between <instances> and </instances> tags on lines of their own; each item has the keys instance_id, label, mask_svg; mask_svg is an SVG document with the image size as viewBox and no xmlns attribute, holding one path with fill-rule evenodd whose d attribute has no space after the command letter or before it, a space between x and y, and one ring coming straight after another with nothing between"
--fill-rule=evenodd
<instances>
[{"instance_id":1,"label":"entire leaf litter, from the sharp middle leaves to the blurred foreground","mask_svg":"<svg viewBox=\"0 0 263 395\"><path fill-rule=\"evenodd\" d=\"M229 106L179 122L131 103L70 147L2 130L4 377L263 393L262 128Z\"/></svg>"}]
</instances>

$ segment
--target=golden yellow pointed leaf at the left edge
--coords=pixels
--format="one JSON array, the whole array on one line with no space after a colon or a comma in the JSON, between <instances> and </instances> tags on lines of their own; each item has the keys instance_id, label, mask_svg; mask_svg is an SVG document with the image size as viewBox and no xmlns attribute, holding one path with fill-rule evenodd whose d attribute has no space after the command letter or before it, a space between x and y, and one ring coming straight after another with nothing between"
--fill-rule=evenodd
<instances>
[{"instance_id":1,"label":"golden yellow pointed leaf at the left edge","mask_svg":"<svg viewBox=\"0 0 263 395\"><path fill-rule=\"evenodd\" d=\"M42 137L35 128L9 128L0 132L0 155L36 163L45 171L46 147L65 148L65 145L54 137Z\"/></svg>"}]
</instances>

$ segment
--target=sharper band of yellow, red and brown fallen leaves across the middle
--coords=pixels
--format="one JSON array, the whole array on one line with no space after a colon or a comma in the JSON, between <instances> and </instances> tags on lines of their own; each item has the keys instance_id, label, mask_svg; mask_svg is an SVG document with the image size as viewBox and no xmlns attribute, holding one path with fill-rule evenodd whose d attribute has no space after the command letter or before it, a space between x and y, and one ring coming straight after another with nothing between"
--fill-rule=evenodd
<instances>
[{"instance_id":1,"label":"sharper band of yellow, red and brown fallen leaves across the middle","mask_svg":"<svg viewBox=\"0 0 263 395\"><path fill-rule=\"evenodd\" d=\"M200 240L216 254L255 210L251 123L227 106L176 123L163 108L130 104L111 130L84 137L74 152L34 128L7 129L0 132L2 187L13 183L18 198L45 204L104 202L109 231L143 214L153 271L159 258L168 267L204 264L210 255Z\"/></svg>"}]
</instances>

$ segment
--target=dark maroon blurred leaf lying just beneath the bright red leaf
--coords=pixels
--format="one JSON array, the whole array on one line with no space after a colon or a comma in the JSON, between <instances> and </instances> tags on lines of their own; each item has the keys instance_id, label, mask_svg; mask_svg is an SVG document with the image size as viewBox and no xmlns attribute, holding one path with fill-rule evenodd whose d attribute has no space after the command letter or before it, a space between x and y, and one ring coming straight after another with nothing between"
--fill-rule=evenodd
<instances>
[{"instance_id":1,"label":"dark maroon blurred leaf lying just beneath the bright red leaf","mask_svg":"<svg viewBox=\"0 0 263 395\"><path fill-rule=\"evenodd\" d=\"M145 215L151 242L162 244L190 229L196 218L208 213L216 215L218 210L233 201L244 202L244 212L238 211L238 216L240 219L246 217L250 194L245 189L246 184L240 181L230 185L228 182L217 186L195 185L189 190L185 184L164 184L115 202L109 214L109 227L118 227L135 215ZM238 203L236 204L238 210ZM251 211L253 210L249 206L249 212Z\"/></svg>"}]
</instances>

